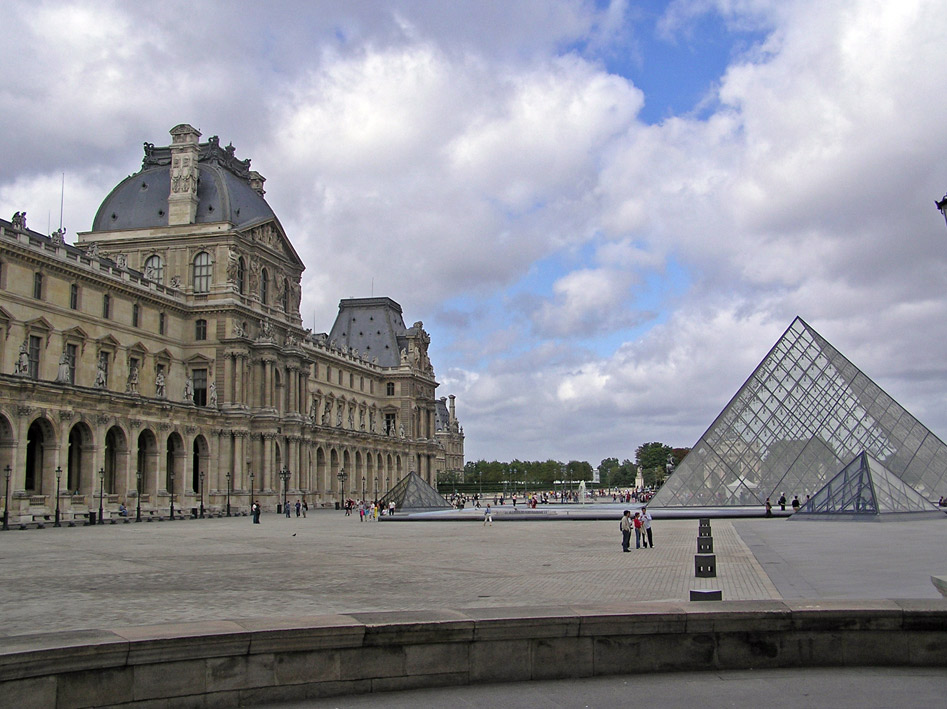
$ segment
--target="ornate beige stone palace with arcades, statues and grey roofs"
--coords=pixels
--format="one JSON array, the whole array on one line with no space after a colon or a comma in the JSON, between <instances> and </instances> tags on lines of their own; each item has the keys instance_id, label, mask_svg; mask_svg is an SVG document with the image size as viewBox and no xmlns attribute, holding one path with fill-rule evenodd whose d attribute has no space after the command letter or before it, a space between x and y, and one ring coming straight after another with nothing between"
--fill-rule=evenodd
<instances>
[{"instance_id":1,"label":"ornate beige stone palace with arcades, statues and grey roofs","mask_svg":"<svg viewBox=\"0 0 947 709\"><path fill-rule=\"evenodd\" d=\"M189 125L65 243L0 220L0 472L10 522L381 497L463 469L422 323L384 298L302 327L305 268L264 178ZM58 505L57 505L58 491Z\"/></svg>"}]
</instances>

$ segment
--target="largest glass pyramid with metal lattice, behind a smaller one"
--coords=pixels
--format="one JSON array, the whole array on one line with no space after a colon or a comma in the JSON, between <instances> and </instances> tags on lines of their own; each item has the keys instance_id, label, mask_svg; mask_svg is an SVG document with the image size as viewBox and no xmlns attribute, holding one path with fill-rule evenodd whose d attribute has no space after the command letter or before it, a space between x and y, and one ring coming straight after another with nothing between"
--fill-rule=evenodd
<instances>
[{"instance_id":1,"label":"largest glass pyramid with metal lattice, behind a smaller one","mask_svg":"<svg viewBox=\"0 0 947 709\"><path fill-rule=\"evenodd\" d=\"M796 318L652 505L804 499L861 451L928 500L947 493L944 442Z\"/></svg>"}]
</instances>

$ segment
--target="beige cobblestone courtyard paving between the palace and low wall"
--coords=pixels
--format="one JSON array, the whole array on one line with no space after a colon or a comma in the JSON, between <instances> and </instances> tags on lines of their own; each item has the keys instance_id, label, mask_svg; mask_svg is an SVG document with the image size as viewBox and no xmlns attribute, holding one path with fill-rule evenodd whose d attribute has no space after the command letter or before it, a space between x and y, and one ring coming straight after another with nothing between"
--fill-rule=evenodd
<instances>
[{"instance_id":1,"label":"beige cobblestone courtyard paving between the palace and low wall","mask_svg":"<svg viewBox=\"0 0 947 709\"><path fill-rule=\"evenodd\" d=\"M727 520L717 578L694 577L696 520L378 523L335 511L0 533L0 635L366 610L779 598Z\"/></svg>"}]
</instances>

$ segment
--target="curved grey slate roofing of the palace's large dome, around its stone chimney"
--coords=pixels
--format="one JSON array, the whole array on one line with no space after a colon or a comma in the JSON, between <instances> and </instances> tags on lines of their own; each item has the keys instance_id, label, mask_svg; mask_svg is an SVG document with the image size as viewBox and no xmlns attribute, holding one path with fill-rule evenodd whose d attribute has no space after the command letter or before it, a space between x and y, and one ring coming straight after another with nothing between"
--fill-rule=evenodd
<instances>
[{"instance_id":1,"label":"curved grey slate roofing of the palace's large dome, around its stone chimney","mask_svg":"<svg viewBox=\"0 0 947 709\"><path fill-rule=\"evenodd\" d=\"M275 217L259 192L245 179L217 164L198 165L198 224L229 221L237 227ZM92 222L92 231L147 229L168 226L171 171L152 167L122 180L105 198Z\"/></svg>"}]
</instances>

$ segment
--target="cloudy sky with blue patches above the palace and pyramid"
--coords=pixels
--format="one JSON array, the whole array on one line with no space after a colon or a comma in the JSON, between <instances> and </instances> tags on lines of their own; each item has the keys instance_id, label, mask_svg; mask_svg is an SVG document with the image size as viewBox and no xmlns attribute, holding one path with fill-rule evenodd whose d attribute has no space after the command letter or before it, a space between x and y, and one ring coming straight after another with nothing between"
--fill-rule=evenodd
<instances>
[{"instance_id":1,"label":"cloudy sky with blue patches above the palace and pyramid","mask_svg":"<svg viewBox=\"0 0 947 709\"><path fill-rule=\"evenodd\" d=\"M802 316L947 438L935 0L0 6L0 213L73 240L190 123L307 265L387 295L468 459L692 445Z\"/></svg>"}]
</instances>

